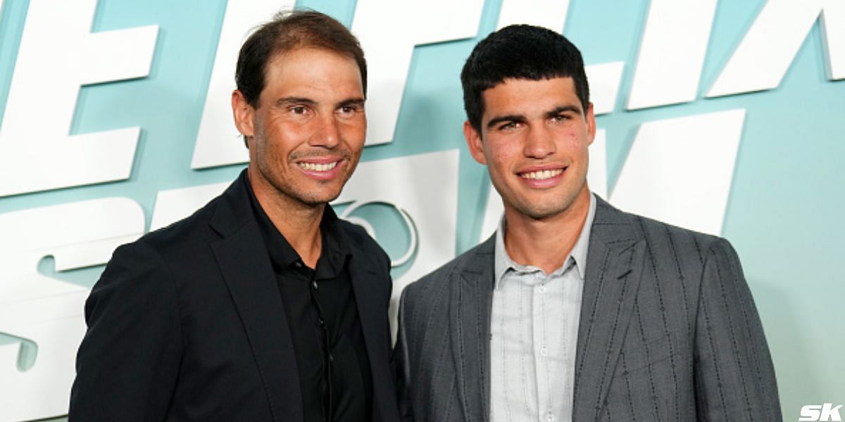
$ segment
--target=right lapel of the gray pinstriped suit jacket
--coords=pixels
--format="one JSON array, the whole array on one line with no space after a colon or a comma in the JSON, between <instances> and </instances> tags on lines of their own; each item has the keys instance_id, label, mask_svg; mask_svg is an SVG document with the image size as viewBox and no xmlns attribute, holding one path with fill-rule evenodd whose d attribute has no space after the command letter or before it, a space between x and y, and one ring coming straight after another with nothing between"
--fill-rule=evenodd
<instances>
[{"instance_id":1,"label":"right lapel of the gray pinstriped suit jacket","mask_svg":"<svg viewBox=\"0 0 845 422\"><path fill-rule=\"evenodd\" d=\"M640 283L645 241L629 217L597 198L575 356L573 420L597 420Z\"/></svg>"}]
</instances>

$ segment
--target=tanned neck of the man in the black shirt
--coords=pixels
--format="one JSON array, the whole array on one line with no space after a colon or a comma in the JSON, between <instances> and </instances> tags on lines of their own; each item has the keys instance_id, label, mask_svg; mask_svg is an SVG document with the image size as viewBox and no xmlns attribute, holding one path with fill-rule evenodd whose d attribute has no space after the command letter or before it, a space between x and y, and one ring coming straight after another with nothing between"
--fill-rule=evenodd
<instances>
[{"instance_id":1,"label":"tanned neck of the man in the black shirt","mask_svg":"<svg viewBox=\"0 0 845 422\"><path fill-rule=\"evenodd\" d=\"M297 201L278 192L260 176L249 177L249 184L253 187L261 209L270 218L276 230L285 236L285 240L291 244L305 265L317 268L317 260L323 246L319 225L326 204L310 205Z\"/></svg>"}]
</instances>

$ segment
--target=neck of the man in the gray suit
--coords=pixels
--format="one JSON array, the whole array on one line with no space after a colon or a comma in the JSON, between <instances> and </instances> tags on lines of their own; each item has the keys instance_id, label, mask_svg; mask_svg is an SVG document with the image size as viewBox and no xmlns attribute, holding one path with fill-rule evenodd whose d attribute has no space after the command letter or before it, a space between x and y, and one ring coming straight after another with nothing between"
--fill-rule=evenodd
<instances>
[{"instance_id":1,"label":"neck of the man in the gray suit","mask_svg":"<svg viewBox=\"0 0 845 422\"><path fill-rule=\"evenodd\" d=\"M590 191L586 187L564 212L544 219L532 219L505 206L504 248L514 262L552 273L570 256L589 211Z\"/></svg>"}]
</instances>

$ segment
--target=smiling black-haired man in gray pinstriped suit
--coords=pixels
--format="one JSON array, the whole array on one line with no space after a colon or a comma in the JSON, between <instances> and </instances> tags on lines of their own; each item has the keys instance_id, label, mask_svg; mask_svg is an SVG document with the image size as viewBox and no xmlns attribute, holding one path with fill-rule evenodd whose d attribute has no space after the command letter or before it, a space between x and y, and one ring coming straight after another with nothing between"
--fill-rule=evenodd
<instances>
[{"instance_id":1,"label":"smiling black-haired man in gray pinstriped suit","mask_svg":"<svg viewBox=\"0 0 845 422\"><path fill-rule=\"evenodd\" d=\"M578 49L510 26L475 47L461 83L466 143L504 218L402 294L406 419L781 420L733 247L587 187L596 122Z\"/></svg>"}]
</instances>

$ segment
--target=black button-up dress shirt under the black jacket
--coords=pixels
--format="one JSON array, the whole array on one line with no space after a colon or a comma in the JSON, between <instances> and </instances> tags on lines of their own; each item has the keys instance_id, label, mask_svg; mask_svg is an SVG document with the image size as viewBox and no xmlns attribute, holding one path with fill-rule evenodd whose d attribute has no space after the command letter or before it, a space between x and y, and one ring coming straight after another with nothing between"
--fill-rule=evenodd
<instances>
[{"instance_id":1,"label":"black button-up dress shirt under the black jacket","mask_svg":"<svg viewBox=\"0 0 845 422\"><path fill-rule=\"evenodd\" d=\"M305 421L371 420L372 374L347 266L354 251L341 242L335 212L325 207L322 250L308 268L249 193L291 330Z\"/></svg>"}]
</instances>

